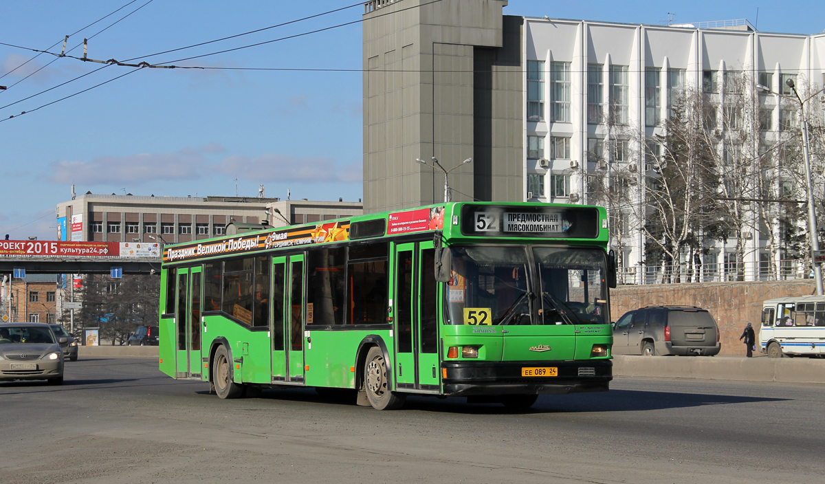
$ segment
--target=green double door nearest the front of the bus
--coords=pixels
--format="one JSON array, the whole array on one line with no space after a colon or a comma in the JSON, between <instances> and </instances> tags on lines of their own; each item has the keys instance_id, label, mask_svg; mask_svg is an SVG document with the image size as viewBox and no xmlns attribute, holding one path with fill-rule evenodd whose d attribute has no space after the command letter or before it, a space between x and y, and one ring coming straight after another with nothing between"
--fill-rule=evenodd
<instances>
[{"instance_id":1,"label":"green double door nearest the front of the bus","mask_svg":"<svg viewBox=\"0 0 825 484\"><path fill-rule=\"evenodd\" d=\"M398 389L438 391L438 312L432 242L395 247L395 378Z\"/></svg>"}]
</instances>

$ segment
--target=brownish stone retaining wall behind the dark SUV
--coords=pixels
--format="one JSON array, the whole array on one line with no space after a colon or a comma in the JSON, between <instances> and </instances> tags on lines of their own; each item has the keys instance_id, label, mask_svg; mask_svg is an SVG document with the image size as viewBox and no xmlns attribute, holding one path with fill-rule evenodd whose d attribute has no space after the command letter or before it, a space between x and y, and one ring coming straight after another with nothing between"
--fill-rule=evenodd
<instances>
[{"instance_id":1,"label":"brownish stone retaining wall behind the dark SUV","mask_svg":"<svg viewBox=\"0 0 825 484\"><path fill-rule=\"evenodd\" d=\"M719 325L719 355L745 355L739 341L750 322L759 337L762 301L815 294L813 280L701 284L623 285L610 289L610 318L645 306L683 304L707 309Z\"/></svg>"}]
</instances>

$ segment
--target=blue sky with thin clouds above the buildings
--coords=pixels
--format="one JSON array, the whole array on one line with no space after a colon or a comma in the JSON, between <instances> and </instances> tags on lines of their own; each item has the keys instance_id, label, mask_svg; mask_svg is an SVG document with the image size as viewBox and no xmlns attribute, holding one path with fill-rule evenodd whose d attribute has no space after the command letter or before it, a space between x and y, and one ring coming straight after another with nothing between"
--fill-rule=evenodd
<instances>
[{"instance_id":1,"label":"blue sky with thin clouds above the buildings","mask_svg":"<svg viewBox=\"0 0 825 484\"><path fill-rule=\"evenodd\" d=\"M59 53L64 35L74 34L67 49L81 46L69 54L82 57L82 40L92 37L90 59L138 58L132 62L174 61L179 66L210 68L331 70L135 70L58 59L50 54L18 67L36 53L0 45L0 85L9 87L0 91L0 237L9 233L12 239L31 235L54 239L54 207L69 200L72 184L78 194L91 190L119 195L205 196L235 195L237 179L238 195L256 196L263 184L271 197L285 197L290 188L297 199L361 198L359 23L178 60L357 22L363 12L360 3L231 40L143 57L355 2L129 2L7 0L2 2L0 43L28 49L47 49L57 43L49 50ZM80 31L120 7L119 12ZM784 6L780 2L760 5L705 0L510 0L505 8L509 15L650 24L667 23L668 12L676 14L676 23L747 18L759 31L813 34L825 29L821 0ZM110 26L112 23L115 25ZM57 87L83 74L88 75ZM127 75L37 109L123 74ZM34 97L21 101L29 96ZM7 106L12 103L16 104ZM20 115L21 111L28 113ZM15 117L8 119L11 115Z\"/></svg>"}]
</instances>

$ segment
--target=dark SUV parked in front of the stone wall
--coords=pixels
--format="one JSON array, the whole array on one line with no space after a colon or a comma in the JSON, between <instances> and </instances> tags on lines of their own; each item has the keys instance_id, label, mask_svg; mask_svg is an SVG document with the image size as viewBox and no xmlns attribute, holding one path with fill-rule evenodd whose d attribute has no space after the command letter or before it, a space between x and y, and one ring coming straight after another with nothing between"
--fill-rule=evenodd
<instances>
[{"instance_id":1,"label":"dark SUV parked in front of the stone wall","mask_svg":"<svg viewBox=\"0 0 825 484\"><path fill-rule=\"evenodd\" d=\"M613 323L614 355L719 354L719 327L706 309L648 306Z\"/></svg>"}]
</instances>

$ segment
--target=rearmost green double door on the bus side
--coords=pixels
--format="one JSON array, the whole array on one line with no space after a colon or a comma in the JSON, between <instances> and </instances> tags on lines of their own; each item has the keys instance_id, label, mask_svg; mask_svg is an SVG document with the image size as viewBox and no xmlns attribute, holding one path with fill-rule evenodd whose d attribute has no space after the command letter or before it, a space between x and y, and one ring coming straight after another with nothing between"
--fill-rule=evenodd
<instances>
[{"instance_id":1,"label":"rearmost green double door on the bus side","mask_svg":"<svg viewBox=\"0 0 825 484\"><path fill-rule=\"evenodd\" d=\"M203 305L201 268L177 270L176 372L178 378L200 377L200 308Z\"/></svg>"}]
</instances>

